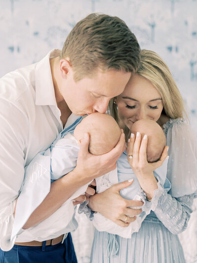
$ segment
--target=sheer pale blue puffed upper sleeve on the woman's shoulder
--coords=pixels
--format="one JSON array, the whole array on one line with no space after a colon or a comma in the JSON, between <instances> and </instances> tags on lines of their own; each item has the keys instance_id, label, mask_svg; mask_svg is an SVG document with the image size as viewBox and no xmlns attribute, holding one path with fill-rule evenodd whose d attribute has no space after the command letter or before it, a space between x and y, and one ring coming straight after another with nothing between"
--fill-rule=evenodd
<instances>
[{"instance_id":1,"label":"sheer pale blue puffed upper sleeve on the woman's shoulder","mask_svg":"<svg viewBox=\"0 0 197 263\"><path fill-rule=\"evenodd\" d=\"M164 124L169 146L167 178L173 197L197 191L197 134L181 118L170 119Z\"/></svg>"}]
</instances>

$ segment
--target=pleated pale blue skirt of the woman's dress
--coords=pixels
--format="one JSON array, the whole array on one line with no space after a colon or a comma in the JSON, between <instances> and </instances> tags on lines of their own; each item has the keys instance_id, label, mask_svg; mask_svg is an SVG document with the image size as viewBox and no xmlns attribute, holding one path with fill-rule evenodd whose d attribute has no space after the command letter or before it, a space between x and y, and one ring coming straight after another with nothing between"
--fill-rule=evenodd
<instances>
[{"instance_id":1,"label":"pleated pale blue skirt of the woman's dress","mask_svg":"<svg viewBox=\"0 0 197 263\"><path fill-rule=\"evenodd\" d=\"M91 263L185 263L178 236L153 212L131 238L95 231Z\"/></svg>"}]
</instances>

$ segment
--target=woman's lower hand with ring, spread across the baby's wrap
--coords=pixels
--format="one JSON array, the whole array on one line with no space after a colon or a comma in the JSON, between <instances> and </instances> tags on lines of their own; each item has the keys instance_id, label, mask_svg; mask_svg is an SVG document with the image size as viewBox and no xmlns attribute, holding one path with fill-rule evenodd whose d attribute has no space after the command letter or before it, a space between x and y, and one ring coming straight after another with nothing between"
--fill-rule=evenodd
<instances>
[{"instance_id":1,"label":"woman's lower hand with ring, spread across the baby's wrap","mask_svg":"<svg viewBox=\"0 0 197 263\"><path fill-rule=\"evenodd\" d=\"M135 221L135 216L142 212L141 209L133 209L132 207L143 205L142 201L125 199L119 193L121 189L131 186L132 182L125 181L113 185L102 193L96 193L91 196L88 206L117 225L128 226Z\"/></svg>"}]
</instances>

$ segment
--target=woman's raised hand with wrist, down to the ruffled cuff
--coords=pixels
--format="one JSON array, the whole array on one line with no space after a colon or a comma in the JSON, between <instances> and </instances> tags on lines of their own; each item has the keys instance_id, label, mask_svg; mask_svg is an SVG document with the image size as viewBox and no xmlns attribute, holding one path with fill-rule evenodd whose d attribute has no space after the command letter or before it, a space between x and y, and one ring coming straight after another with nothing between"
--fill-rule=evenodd
<instances>
[{"instance_id":1,"label":"woman's raised hand with wrist, down to the ruffled cuff","mask_svg":"<svg viewBox=\"0 0 197 263\"><path fill-rule=\"evenodd\" d=\"M128 161L141 188L146 193L147 198L151 200L154 196L154 190L158 189L158 182L153 174L153 171L163 164L167 157L168 147L165 146L159 161L148 163L146 156L147 143L148 138L146 135L144 135L141 140L139 132L137 132L136 138L134 134L131 134L131 139L127 145L127 153Z\"/></svg>"}]
</instances>

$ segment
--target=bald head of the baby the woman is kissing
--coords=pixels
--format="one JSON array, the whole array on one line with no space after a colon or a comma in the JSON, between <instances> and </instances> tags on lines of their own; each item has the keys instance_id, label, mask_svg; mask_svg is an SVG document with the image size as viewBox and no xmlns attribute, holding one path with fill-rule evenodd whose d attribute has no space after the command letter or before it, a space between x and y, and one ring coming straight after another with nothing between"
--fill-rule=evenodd
<instances>
[{"instance_id":1,"label":"bald head of the baby the woman is kissing","mask_svg":"<svg viewBox=\"0 0 197 263\"><path fill-rule=\"evenodd\" d=\"M148 136L147 161L159 161L166 145L166 138L160 125L154 120L140 119L133 123L131 132L134 134L140 132L141 138L143 138L145 134Z\"/></svg>"}]
</instances>

